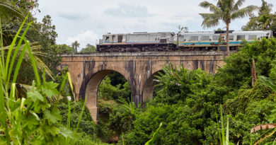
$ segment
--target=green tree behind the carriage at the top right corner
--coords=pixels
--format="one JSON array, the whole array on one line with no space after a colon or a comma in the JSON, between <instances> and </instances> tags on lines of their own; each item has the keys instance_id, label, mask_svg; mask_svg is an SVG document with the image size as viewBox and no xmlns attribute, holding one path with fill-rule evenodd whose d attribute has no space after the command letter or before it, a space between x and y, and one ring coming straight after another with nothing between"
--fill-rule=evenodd
<instances>
[{"instance_id":1,"label":"green tree behind the carriage at the top right corner","mask_svg":"<svg viewBox=\"0 0 276 145\"><path fill-rule=\"evenodd\" d=\"M252 15L250 21L243 25L243 30L276 30L276 13L272 14L272 4L262 0L262 6L258 11L258 16Z\"/></svg>"}]
</instances>

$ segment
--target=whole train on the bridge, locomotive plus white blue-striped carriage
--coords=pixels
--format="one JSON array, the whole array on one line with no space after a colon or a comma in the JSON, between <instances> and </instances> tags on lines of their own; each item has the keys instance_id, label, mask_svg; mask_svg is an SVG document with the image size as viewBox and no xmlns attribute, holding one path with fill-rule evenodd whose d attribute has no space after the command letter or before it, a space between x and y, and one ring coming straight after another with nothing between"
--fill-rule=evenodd
<instances>
[{"instance_id":1,"label":"whole train on the bridge, locomotive plus white blue-striped carriage","mask_svg":"<svg viewBox=\"0 0 276 145\"><path fill-rule=\"evenodd\" d=\"M229 31L230 50L238 50L243 43L254 42L263 37L273 37L271 30ZM226 51L226 31L125 33L103 35L97 52L149 52L149 51Z\"/></svg>"}]
</instances>

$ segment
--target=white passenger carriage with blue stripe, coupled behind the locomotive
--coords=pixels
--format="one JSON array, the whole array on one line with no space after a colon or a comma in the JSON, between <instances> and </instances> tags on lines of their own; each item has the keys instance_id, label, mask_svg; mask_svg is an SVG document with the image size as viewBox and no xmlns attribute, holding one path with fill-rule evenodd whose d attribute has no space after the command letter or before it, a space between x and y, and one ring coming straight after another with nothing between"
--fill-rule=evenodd
<instances>
[{"instance_id":1,"label":"white passenger carriage with blue stripe, coupled behind the locomotive","mask_svg":"<svg viewBox=\"0 0 276 145\"><path fill-rule=\"evenodd\" d=\"M253 42L263 37L272 37L271 30L229 31L230 50L236 50L243 40ZM226 50L226 31L188 32L178 34L180 50Z\"/></svg>"}]
</instances>

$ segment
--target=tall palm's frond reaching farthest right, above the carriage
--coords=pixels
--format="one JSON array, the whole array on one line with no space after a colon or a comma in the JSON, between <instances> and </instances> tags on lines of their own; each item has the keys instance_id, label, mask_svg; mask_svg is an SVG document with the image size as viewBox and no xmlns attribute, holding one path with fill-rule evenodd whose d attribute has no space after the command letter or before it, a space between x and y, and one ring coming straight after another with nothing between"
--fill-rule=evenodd
<instances>
[{"instance_id":1,"label":"tall palm's frond reaching farthest right, above the carriage","mask_svg":"<svg viewBox=\"0 0 276 145\"><path fill-rule=\"evenodd\" d=\"M246 6L246 8L241 8L238 11L235 11L231 14L231 19L235 20L236 18L243 18L249 16L253 11L257 10L258 6Z\"/></svg>"}]
</instances>

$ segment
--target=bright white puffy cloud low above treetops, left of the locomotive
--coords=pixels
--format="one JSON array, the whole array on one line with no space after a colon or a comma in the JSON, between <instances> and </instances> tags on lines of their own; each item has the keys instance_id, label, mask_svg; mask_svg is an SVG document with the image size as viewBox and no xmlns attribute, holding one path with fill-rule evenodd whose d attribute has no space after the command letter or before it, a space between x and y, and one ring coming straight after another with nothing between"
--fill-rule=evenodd
<instances>
[{"instance_id":1,"label":"bright white puffy cloud low above treetops, left of the locomotive","mask_svg":"<svg viewBox=\"0 0 276 145\"><path fill-rule=\"evenodd\" d=\"M66 42L68 45L71 45L71 43L78 41L81 45L80 47L84 48L88 43L95 45L97 39L98 35L93 30L86 30L86 32L80 33L75 37L68 37Z\"/></svg>"}]
</instances>

